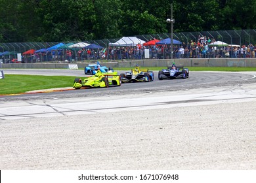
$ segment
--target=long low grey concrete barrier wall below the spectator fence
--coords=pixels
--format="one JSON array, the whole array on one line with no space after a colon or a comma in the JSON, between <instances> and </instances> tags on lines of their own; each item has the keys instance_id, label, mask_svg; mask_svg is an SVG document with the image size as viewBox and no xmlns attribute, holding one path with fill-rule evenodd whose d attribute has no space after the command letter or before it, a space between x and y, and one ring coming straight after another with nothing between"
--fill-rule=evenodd
<instances>
[{"instance_id":1,"label":"long low grey concrete barrier wall below the spectator fence","mask_svg":"<svg viewBox=\"0 0 256 183\"><path fill-rule=\"evenodd\" d=\"M102 63L106 67L167 67L175 62L184 67L256 67L256 58L218 58L218 59L140 59ZM79 69L89 63L2 63L3 69L68 69L68 64L77 64Z\"/></svg>"}]
</instances>

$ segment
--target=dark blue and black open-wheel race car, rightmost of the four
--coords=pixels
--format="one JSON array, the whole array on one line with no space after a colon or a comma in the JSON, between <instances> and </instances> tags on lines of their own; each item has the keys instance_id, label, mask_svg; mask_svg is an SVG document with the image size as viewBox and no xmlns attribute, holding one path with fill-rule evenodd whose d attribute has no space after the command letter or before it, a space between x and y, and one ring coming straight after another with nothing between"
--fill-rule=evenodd
<instances>
[{"instance_id":1,"label":"dark blue and black open-wheel race car, rightmost of the four","mask_svg":"<svg viewBox=\"0 0 256 183\"><path fill-rule=\"evenodd\" d=\"M158 72L158 79L173 79L173 78L188 78L189 70L188 68L183 68L183 66L167 67L167 69L162 69Z\"/></svg>"}]
</instances>

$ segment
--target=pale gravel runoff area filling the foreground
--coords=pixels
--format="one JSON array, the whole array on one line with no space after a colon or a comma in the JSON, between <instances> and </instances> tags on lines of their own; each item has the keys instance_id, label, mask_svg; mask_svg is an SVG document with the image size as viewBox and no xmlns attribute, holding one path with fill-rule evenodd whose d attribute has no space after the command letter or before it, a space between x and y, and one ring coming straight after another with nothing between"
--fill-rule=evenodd
<instances>
[{"instance_id":1,"label":"pale gravel runoff area filling the foreground","mask_svg":"<svg viewBox=\"0 0 256 183\"><path fill-rule=\"evenodd\" d=\"M255 110L252 97L0 120L0 168L256 169Z\"/></svg>"}]
</instances>

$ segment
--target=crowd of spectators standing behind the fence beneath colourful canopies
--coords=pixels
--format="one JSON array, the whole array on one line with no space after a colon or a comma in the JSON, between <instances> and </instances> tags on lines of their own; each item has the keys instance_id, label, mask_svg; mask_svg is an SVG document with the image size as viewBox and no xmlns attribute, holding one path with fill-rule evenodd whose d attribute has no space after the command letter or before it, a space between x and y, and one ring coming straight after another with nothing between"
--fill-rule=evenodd
<instances>
[{"instance_id":1,"label":"crowd of spectators standing behind the fence beneath colourful canopies","mask_svg":"<svg viewBox=\"0 0 256 183\"><path fill-rule=\"evenodd\" d=\"M59 49L49 52L39 52L27 55L22 62L37 61L83 61L93 59L121 60L144 59L145 50L149 51L149 59L170 59L173 50L174 59L189 58L255 58L256 44L247 45L211 45L215 39L206 36L198 36L196 41L182 42L182 44L155 44L144 46L108 46L108 48L96 49ZM3 58L3 61L6 58ZM10 60L11 61L11 60Z\"/></svg>"}]
</instances>

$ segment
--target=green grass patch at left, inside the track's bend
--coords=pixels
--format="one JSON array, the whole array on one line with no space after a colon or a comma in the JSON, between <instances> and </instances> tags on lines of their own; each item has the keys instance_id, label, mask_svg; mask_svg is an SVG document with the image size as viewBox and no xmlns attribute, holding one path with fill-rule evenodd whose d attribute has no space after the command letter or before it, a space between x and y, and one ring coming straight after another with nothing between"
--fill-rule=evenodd
<instances>
[{"instance_id":1,"label":"green grass patch at left, inside the track's bend","mask_svg":"<svg viewBox=\"0 0 256 183\"><path fill-rule=\"evenodd\" d=\"M72 87L74 79L74 76L5 75L0 79L0 95Z\"/></svg>"}]
</instances>

